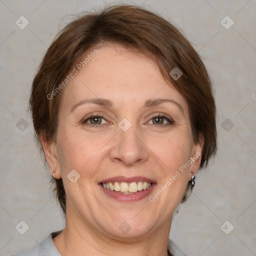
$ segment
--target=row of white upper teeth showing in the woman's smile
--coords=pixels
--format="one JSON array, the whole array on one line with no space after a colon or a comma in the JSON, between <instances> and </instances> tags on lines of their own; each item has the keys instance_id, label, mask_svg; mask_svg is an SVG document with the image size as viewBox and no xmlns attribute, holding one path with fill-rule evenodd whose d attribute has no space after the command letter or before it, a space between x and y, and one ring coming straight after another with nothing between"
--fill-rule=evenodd
<instances>
[{"instance_id":1,"label":"row of white upper teeth showing in the woman's smile","mask_svg":"<svg viewBox=\"0 0 256 256\"><path fill-rule=\"evenodd\" d=\"M142 189L147 189L151 186L151 183L146 181L138 181L136 182L107 182L102 183L103 187L106 189L120 191L120 192L137 192Z\"/></svg>"}]
</instances>

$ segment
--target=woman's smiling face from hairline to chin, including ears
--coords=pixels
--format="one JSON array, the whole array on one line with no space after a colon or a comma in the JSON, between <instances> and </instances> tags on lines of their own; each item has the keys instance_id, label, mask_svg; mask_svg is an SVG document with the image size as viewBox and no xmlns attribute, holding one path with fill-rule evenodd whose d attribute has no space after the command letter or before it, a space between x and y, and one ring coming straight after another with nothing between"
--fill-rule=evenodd
<instances>
[{"instance_id":1,"label":"woman's smiling face from hairline to chin, including ears","mask_svg":"<svg viewBox=\"0 0 256 256\"><path fill-rule=\"evenodd\" d=\"M56 142L45 149L67 222L115 237L169 231L200 163L183 96L155 63L117 44L100 47L62 90Z\"/></svg>"}]
</instances>

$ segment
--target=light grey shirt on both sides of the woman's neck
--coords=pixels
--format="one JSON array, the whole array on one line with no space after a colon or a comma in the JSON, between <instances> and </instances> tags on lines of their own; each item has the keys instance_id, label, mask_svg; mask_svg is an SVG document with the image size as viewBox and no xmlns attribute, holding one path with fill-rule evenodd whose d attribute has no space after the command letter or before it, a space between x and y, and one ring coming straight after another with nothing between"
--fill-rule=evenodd
<instances>
[{"instance_id":1,"label":"light grey shirt on both sides of the woman's neck","mask_svg":"<svg viewBox=\"0 0 256 256\"><path fill-rule=\"evenodd\" d=\"M52 237L56 236L61 231L62 230L52 232L40 244L35 245L29 250L18 252L11 256L61 256L52 241ZM168 240L168 250L172 256L187 256L170 239Z\"/></svg>"}]
</instances>

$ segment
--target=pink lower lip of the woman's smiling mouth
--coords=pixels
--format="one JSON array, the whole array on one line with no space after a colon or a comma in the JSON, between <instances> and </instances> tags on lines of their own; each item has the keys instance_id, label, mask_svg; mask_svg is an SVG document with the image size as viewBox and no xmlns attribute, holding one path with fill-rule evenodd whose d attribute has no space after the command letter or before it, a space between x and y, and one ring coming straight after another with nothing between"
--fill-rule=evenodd
<instances>
[{"instance_id":1,"label":"pink lower lip of the woman's smiling mouth","mask_svg":"<svg viewBox=\"0 0 256 256\"><path fill-rule=\"evenodd\" d=\"M117 201L121 201L121 202L135 202L135 201L139 201L143 198L145 198L147 195L149 195L152 190L154 189L154 187L156 186L156 183L153 183L151 185L151 187L147 188L147 189L143 189L141 191L137 191L135 193L132 194L122 194L119 192L116 192L114 190L110 190L107 188L104 188L102 186L102 184L99 184L99 186L101 187L101 189L103 190L103 192L108 195L109 197L117 200Z\"/></svg>"}]
</instances>

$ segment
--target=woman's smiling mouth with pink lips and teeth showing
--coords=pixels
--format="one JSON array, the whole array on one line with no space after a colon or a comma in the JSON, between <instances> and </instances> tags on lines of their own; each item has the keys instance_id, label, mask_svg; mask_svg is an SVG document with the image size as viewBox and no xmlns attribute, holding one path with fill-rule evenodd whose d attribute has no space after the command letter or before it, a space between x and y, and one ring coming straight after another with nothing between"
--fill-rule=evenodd
<instances>
[{"instance_id":1,"label":"woman's smiling mouth with pink lips and teeth showing","mask_svg":"<svg viewBox=\"0 0 256 256\"><path fill-rule=\"evenodd\" d=\"M145 177L112 177L98 183L106 195L118 201L143 199L156 186L154 180Z\"/></svg>"}]
</instances>

